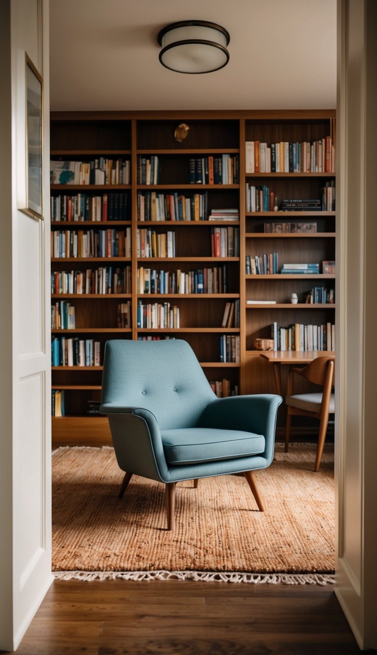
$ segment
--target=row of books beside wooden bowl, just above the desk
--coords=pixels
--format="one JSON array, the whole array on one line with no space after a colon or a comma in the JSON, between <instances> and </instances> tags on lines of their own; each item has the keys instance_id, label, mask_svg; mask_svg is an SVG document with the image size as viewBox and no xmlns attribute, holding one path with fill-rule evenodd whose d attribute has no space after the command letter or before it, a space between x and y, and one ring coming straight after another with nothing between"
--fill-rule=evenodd
<instances>
[{"instance_id":1,"label":"row of books beside wooden bowl, just above the desk","mask_svg":"<svg viewBox=\"0 0 377 655\"><path fill-rule=\"evenodd\" d=\"M274 350L335 350L335 326L331 322L321 325L295 323L287 327L279 327L274 322L270 334Z\"/></svg>"}]
</instances>

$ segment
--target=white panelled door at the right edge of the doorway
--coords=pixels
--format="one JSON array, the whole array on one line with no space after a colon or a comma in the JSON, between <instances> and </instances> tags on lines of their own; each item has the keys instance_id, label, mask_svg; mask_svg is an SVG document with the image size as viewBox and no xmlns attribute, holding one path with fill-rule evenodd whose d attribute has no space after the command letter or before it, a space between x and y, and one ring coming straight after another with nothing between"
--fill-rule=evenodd
<instances>
[{"instance_id":1,"label":"white panelled door at the right edge of the doorway","mask_svg":"<svg viewBox=\"0 0 377 655\"><path fill-rule=\"evenodd\" d=\"M336 595L377 648L377 3L338 0Z\"/></svg>"}]
</instances>

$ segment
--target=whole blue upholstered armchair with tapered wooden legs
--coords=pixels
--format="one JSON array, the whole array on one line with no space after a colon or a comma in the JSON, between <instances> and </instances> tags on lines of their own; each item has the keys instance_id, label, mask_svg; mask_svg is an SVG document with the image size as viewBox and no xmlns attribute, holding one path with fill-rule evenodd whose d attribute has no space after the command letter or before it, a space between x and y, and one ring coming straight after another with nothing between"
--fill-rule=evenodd
<instances>
[{"instance_id":1,"label":"whole blue upholstered armchair with tapered wooden legs","mask_svg":"<svg viewBox=\"0 0 377 655\"><path fill-rule=\"evenodd\" d=\"M280 396L217 398L186 341L107 341L100 412L126 472L166 485L168 530L174 528L175 483L243 473L260 511L253 470L274 455Z\"/></svg>"}]
</instances>

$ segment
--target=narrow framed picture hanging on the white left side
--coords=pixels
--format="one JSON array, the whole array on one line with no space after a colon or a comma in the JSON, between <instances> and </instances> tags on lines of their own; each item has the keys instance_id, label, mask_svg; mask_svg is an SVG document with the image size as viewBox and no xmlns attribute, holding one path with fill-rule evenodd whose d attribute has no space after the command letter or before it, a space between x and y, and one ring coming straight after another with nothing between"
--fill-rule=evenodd
<instances>
[{"instance_id":1,"label":"narrow framed picture hanging on the white left side","mask_svg":"<svg viewBox=\"0 0 377 655\"><path fill-rule=\"evenodd\" d=\"M43 219L43 80L26 54L26 208Z\"/></svg>"}]
</instances>

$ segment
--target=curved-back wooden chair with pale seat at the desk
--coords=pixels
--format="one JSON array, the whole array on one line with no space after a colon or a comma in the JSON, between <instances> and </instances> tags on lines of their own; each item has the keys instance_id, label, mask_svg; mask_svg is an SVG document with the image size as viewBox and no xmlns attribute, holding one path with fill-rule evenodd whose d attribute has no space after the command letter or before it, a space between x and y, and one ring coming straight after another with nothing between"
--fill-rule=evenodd
<instances>
[{"instance_id":1,"label":"curved-back wooden chair with pale seat at the desk","mask_svg":"<svg viewBox=\"0 0 377 655\"><path fill-rule=\"evenodd\" d=\"M317 445L317 455L315 457L314 470L319 471L323 446L327 426L329 424L329 414L334 414L334 394L332 386L334 384L334 356L319 356L304 368L291 366L289 368L287 397L287 422L285 424L285 452L289 449L289 438L291 436L291 422L293 415L310 416L319 419L319 435ZM293 394L293 383L295 375L299 375L308 382L322 386L321 392L309 392L306 394Z\"/></svg>"}]
</instances>

